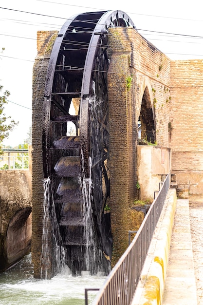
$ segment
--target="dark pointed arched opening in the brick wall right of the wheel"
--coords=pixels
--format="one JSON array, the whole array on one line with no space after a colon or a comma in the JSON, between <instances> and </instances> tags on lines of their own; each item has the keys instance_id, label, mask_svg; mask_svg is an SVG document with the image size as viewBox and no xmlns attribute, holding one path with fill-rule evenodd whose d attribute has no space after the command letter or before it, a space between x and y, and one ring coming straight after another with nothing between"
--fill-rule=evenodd
<instances>
[{"instance_id":1,"label":"dark pointed arched opening in the brick wall right of the wheel","mask_svg":"<svg viewBox=\"0 0 203 305\"><path fill-rule=\"evenodd\" d=\"M138 120L138 138L139 144L144 144L147 142L154 144L156 141L154 115L151 107L148 87L145 88L142 98L142 105Z\"/></svg>"}]
</instances>

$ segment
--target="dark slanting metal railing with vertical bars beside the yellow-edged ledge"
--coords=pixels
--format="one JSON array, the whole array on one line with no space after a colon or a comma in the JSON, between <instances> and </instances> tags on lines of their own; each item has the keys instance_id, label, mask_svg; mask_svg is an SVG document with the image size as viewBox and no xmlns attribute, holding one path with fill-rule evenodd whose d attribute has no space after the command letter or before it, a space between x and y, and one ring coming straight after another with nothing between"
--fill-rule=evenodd
<instances>
[{"instance_id":1,"label":"dark slanting metal railing with vertical bars beside the yellow-edged ledge","mask_svg":"<svg viewBox=\"0 0 203 305\"><path fill-rule=\"evenodd\" d=\"M93 305L129 305L135 294L154 229L170 186L170 173L154 199L132 243L111 270Z\"/></svg>"}]
</instances>

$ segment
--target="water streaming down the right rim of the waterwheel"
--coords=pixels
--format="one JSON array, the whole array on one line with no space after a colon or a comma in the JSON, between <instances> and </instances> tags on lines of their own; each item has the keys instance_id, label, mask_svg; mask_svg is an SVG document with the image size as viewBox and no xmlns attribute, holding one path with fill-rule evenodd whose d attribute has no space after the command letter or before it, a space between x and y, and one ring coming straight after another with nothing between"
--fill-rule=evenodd
<instances>
[{"instance_id":1,"label":"water streaming down the right rim of the waterwheel","mask_svg":"<svg viewBox=\"0 0 203 305\"><path fill-rule=\"evenodd\" d=\"M103 212L103 191L106 185L103 180L102 167L104 166L103 155L103 127L101 128L104 102L96 97L95 83L92 84L93 96L88 98L90 110L90 135L91 156L89 156L89 178L85 175L84 155L81 150L82 176L81 189L83 193L83 214L85 219L84 239L86 240L86 270L92 274L98 271L109 273L111 265L107 263L101 249L101 236L104 233L105 224L101 221L100 214ZM108 141L106 141L108 142ZM107 147L107 146L105 146ZM96 220L96 226L95 226ZM97 230L100 230L97 236ZM99 262L99 264L98 264Z\"/></svg>"}]
</instances>

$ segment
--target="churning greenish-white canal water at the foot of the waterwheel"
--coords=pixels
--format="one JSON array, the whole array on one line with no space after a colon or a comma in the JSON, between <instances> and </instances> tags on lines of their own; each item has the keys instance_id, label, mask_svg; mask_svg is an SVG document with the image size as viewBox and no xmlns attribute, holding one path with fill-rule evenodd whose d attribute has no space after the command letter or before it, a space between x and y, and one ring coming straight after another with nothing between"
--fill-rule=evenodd
<instances>
[{"instance_id":1,"label":"churning greenish-white canal water at the foot of the waterwheel","mask_svg":"<svg viewBox=\"0 0 203 305\"><path fill-rule=\"evenodd\" d=\"M0 274L0 305L84 305L85 288L100 288L105 280L105 276L91 276L87 272L72 276L68 267L51 280L34 279L30 253ZM96 293L88 292L88 305Z\"/></svg>"}]
</instances>

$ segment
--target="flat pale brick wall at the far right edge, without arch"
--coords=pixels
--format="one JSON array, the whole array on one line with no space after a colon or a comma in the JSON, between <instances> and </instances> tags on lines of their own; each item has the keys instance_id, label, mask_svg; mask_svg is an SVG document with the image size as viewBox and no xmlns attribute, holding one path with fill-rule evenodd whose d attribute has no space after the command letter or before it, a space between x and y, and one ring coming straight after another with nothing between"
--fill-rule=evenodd
<instances>
[{"instance_id":1,"label":"flat pale brick wall at the far right edge, without arch","mask_svg":"<svg viewBox=\"0 0 203 305\"><path fill-rule=\"evenodd\" d=\"M171 61L170 121L176 185L203 194L203 60Z\"/></svg>"}]
</instances>

